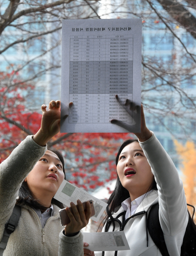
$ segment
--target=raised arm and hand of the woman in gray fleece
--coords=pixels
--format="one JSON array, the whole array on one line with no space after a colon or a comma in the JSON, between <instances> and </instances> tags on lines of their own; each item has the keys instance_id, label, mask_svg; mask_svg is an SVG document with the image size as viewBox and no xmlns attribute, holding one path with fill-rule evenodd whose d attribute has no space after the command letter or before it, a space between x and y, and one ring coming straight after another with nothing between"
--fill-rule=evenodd
<instances>
[{"instance_id":1,"label":"raised arm and hand of the woman in gray fleece","mask_svg":"<svg viewBox=\"0 0 196 256\"><path fill-rule=\"evenodd\" d=\"M11 216L21 183L47 150L46 143L60 131L60 101L42 105L41 128L27 136L0 164L0 226ZM33 137L33 138L32 138Z\"/></svg>"}]
</instances>

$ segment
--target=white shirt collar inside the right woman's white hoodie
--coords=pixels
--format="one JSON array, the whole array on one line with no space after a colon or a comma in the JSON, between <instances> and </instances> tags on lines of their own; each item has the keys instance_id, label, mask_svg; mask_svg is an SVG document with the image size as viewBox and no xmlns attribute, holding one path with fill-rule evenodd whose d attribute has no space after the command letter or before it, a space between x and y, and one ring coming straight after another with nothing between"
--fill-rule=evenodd
<instances>
[{"instance_id":1,"label":"white shirt collar inside the right woman's white hoodie","mask_svg":"<svg viewBox=\"0 0 196 256\"><path fill-rule=\"evenodd\" d=\"M147 196L151 191L152 190L148 191L147 193L141 195L133 201L131 201L131 198L129 197L121 203L124 211L127 211L125 214L125 220L136 212L144 197Z\"/></svg>"}]
</instances>

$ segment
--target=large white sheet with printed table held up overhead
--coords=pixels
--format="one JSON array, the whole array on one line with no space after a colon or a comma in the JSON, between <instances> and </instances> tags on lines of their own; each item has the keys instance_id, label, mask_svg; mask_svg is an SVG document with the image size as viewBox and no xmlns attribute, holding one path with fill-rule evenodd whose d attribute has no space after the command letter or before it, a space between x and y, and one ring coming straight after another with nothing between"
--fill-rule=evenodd
<instances>
[{"instance_id":1,"label":"large white sheet with printed table held up overhead","mask_svg":"<svg viewBox=\"0 0 196 256\"><path fill-rule=\"evenodd\" d=\"M141 19L63 20L62 106L73 102L61 132L123 132L140 128L126 99L140 105ZM120 103L116 99L118 95Z\"/></svg>"}]
</instances>

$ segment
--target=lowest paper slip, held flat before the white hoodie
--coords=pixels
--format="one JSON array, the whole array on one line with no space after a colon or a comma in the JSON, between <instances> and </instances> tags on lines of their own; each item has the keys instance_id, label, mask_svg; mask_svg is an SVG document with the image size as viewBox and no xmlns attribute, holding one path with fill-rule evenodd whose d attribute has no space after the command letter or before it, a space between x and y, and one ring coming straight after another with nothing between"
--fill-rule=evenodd
<instances>
[{"instance_id":1,"label":"lowest paper slip, held flat before the white hoodie","mask_svg":"<svg viewBox=\"0 0 196 256\"><path fill-rule=\"evenodd\" d=\"M83 241L88 243L90 251L123 251L130 250L124 231L117 232L83 232Z\"/></svg>"}]
</instances>

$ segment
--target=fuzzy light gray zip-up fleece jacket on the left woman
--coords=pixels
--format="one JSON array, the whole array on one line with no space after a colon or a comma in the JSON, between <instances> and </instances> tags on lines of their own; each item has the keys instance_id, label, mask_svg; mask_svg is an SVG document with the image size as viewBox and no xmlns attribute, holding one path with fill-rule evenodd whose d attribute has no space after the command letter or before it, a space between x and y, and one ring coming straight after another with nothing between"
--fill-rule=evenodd
<instances>
[{"instance_id":1,"label":"fuzzy light gray zip-up fleece jacket on the left woman","mask_svg":"<svg viewBox=\"0 0 196 256\"><path fill-rule=\"evenodd\" d=\"M0 164L0 241L21 183L46 150L47 146L40 147L32 136L27 136ZM9 237L3 256L83 256L82 233L66 237L60 225L59 208L56 205L53 208L53 216L42 229L37 213L28 206L22 206L19 223Z\"/></svg>"}]
</instances>

